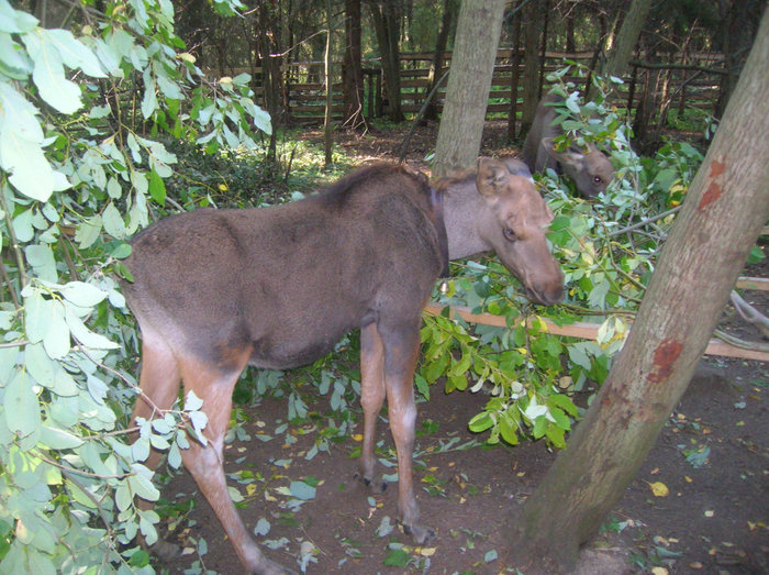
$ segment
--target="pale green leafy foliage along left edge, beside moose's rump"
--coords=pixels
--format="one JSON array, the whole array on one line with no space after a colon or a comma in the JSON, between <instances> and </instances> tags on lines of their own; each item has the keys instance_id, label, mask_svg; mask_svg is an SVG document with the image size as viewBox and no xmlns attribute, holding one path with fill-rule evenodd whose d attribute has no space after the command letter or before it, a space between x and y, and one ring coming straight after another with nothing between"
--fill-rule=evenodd
<instances>
[{"instance_id":1,"label":"pale green leafy foliage along left edge, beside moose's rump","mask_svg":"<svg viewBox=\"0 0 769 575\"><path fill-rule=\"evenodd\" d=\"M76 8L73 31L43 29L0 0L3 573L151 571L135 542L157 538L136 500L158 497L143 462L152 446L178 466L205 416L190 395L129 443L138 390L121 360L137 341L111 272L165 206L166 142L255 150L270 131L247 76L211 81L182 52L170 2Z\"/></svg>"}]
</instances>

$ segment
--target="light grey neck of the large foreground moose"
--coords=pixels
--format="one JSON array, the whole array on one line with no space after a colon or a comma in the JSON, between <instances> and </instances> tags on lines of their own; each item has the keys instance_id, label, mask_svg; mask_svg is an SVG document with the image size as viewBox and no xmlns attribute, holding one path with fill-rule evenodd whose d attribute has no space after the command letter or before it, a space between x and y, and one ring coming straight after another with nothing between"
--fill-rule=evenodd
<instances>
[{"instance_id":1,"label":"light grey neck of the large foreground moose","mask_svg":"<svg viewBox=\"0 0 769 575\"><path fill-rule=\"evenodd\" d=\"M455 183L444 195L444 220L448 237L448 258L460 259L491 246L481 237L480 230L488 224L489 209L478 193L475 180Z\"/></svg>"}]
</instances>

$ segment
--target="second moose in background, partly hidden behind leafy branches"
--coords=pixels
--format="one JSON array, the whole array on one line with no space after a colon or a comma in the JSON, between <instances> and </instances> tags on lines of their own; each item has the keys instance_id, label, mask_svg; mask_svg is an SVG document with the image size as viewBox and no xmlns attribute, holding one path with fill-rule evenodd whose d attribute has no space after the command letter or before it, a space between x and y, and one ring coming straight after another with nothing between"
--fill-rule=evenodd
<instances>
[{"instance_id":1,"label":"second moose in background, partly hidden behind leafy branches","mask_svg":"<svg viewBox=\"0 0 769 575\"><path fill-rule=\"evenodd\" d=\"M595 198L606 190L614 177L614 166L603 153L589 143L587 150L571 146L565 152L558 152L553 146L553 139L562 134L559 125L553 125L556 119L554 103L561 102L560 96L549 93L537 106L532 128L523 143L523 161L532 172L543 172L546 168L564 173L573 180L579 191L586 198Z\"/></svg>"}]
</instances>

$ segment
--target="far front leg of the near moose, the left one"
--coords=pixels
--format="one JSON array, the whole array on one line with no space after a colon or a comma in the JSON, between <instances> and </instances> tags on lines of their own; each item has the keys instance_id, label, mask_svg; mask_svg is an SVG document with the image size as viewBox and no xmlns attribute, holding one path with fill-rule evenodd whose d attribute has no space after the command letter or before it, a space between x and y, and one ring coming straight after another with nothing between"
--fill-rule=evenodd
<instances>
[{"instance_id":1,"label":"far front leg of the near moose, the left one","mask_svg":"<svg viewBox=\"0 0 769 575\"><path fill-rule=\"evenodd\" d=\"M384 347L371 323L360 330L360 405L364 409L364 441L360 450L360 480L375 493L387 488L376 478L377 458L374 453L379 411L384 402Z\"/></svg>"}]
</instances>

